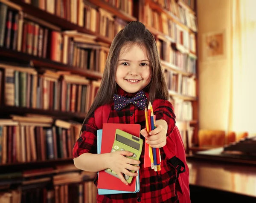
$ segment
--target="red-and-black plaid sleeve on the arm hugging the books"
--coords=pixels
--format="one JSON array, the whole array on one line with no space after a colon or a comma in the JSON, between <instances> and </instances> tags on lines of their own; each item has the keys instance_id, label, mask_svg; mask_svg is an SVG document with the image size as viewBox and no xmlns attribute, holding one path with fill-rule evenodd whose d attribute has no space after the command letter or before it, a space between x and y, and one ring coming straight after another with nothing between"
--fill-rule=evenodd
<instances>
[{"instance_id":1,"label":"red-and-black plaid sleeve on the arm hugging the books","mask_svg":"<svg viewBox=\"0 0 256 203\"><path fill-rule=\"evenodd\" d=\"M81 154L90 152L97 153L97 128L94 120L94 113L88 122L82 127L82 134L76 140L73 147L73 158L79 157Z\"/></svg>"}]
</instances>

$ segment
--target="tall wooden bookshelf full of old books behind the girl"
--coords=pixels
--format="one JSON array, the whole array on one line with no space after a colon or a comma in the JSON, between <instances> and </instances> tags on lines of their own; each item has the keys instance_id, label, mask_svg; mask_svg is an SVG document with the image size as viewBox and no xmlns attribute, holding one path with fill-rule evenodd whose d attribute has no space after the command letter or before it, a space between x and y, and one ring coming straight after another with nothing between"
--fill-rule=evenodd
<instances>
[{"instance_id":1,"label":"tall wooden bookshelf full of old books behind the girl","mask_svg":"<svg viewBox=\"0 0 256 203\"><path fill-rule=\"evenodd\" d=\"M195 2L163 2L0 0L0 167L2 180L9 178L0 193L6 202L28 200L29 190L55 202L74 192L84 194L75 202L96 202L95 174L73 166L71 149L113 37L133 20L154 35L177 120L188 123L197 144Z\"/></svg>"}]
</instances>

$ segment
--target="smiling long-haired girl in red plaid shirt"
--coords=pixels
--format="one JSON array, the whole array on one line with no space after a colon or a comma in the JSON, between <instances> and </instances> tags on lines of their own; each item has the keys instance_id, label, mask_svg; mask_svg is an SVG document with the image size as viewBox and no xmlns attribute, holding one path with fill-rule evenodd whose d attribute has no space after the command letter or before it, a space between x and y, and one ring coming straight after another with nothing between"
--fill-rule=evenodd
<instances>
[{"instance_id":1,"label":"smiling long-haired girl in red plaid shirt","mask_svg":"<svg viewBox=\"0 0 256 203\"><path fill-rule=\"evenodd\" d=\"M130 101L123 103L118 98ZM73 148L73 160L78 169L98 172L115 171L124 184L123 176L137 176L128 170L139 170L140 192L128 194L97 195L102 203L190 203L189 169L184 146L175 127L173 106L153 35L139 21L133 21L119 31L110 47L101 86L84 120L82 134ZM145 105L138 105L143 101ZM145 106L151 101L156 115L156 129L145 130ZM108 123L137 123L141 136L152 147L160 148L161 171L144 168L144 145L140 160L132 160L127 151L97 154L97 127L94 112L100 106L111 105ZM176 158L177 157L177 158ZM136 164L139 166L132 166ZM180 167L183 166L181 172ZM180 174L179 174L180 173ZM97 186L97 176L95 178Z\"/></svg>"}]
</instances>

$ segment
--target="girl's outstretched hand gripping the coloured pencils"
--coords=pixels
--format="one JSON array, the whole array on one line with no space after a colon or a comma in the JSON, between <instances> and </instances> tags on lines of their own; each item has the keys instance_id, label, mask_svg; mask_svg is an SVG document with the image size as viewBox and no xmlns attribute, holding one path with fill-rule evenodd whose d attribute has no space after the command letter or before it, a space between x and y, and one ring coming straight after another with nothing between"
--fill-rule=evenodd
<instances>
[{"instance_id":1,"label":"girl's outstretched hand gripping the coloured pencils","mask_svg":"<svg viewBox=\"0 0 256 203\"><path fill-rule=\"evenodd\" d=\"M146 143L153 148L160 148L166 145L167 131L161 125L156 125L156 128L149 134L146 129L141 130L140 133L146 138Z\"/></svg>"}]
</instances>

